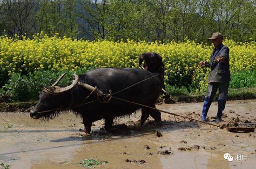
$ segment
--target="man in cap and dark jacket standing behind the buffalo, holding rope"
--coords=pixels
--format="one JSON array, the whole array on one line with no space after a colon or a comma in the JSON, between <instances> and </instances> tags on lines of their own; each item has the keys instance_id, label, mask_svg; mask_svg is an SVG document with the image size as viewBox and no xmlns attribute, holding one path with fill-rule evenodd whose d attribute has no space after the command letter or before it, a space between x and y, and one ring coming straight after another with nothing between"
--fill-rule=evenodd
<instances>
[{"instance_id":1,"label":"man in cap and dark jacket standing behind the buffalo, holding rope","mask_svg":"<svg viewBox=\"0 0 256 169\"><path fill-rule=\"evenodd\" d=\"M215 122L219 123L222 120L222 111L225 108L228 88L230 81L229 71L229 48L222 45L223 36L220 32L212 34L212 37L208 40L212 40L214 49L210 56L210 63L206 61L199 62L199 65L205 65L211 69L208 77L208 90L207 95L204 98L204 104L202 108L202 121L208 121L206 119L207 112L216 95L216 91L219 89L218 95L218 112Z\"/></svg>"}]
</instances>

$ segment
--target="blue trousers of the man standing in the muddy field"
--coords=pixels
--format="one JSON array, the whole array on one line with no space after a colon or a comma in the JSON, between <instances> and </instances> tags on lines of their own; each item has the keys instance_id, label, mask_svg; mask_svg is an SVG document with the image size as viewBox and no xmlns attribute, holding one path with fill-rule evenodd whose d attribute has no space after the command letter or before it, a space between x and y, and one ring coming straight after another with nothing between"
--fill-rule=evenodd
<instances>
[{"instance_id":1,"label":"blue trousers of the man standing in the muddy field","mask_svg":"<svg viewBox=\"0 0 256 169\"><path fill-rule=\"evenodd\" d=\"M226 101L228 98L228 88L229 82L226 83L209 83L207 89L207 95L204 98L204 104L202 107L202 117L201 120L205 120L210 105L216 95L216 92L219 88L219 95L218 95L218 112L217 118L222 118L222 111L225 109Z\"/></svg>"}]
</instances>

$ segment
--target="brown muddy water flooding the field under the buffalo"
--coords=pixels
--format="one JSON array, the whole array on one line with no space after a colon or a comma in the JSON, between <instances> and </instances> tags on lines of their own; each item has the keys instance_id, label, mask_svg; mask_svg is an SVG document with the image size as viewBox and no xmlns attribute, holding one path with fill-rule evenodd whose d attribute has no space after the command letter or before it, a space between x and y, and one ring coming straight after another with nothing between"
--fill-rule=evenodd
<instances>
[{"instance_id":1,"label":"brown muddy water flooding the field under the buffalo","mask_svg":"<svg viewBox=\"0 0 256 169\"><path fill-rule=\"evenodd\" d=\"M202 103L162 104L157 108L200 119ZM216 111L217 105L213 103L208 116L216 116ZM232 117L251 122L246 124L256 123L256 100L228 101L224 113L228 117L221 124ZM115 119L114 125L139 118L140 112ZM157 124L149 118L140 131L114 130L83 136L79 132L83 128L81 118L69 112L50 122L33 120L28 113L0 113L0 163L10 164L11 169L75 169L82 168L77 164L82 159L93 158L108 161L96 166L106 169L255 169L255 132L231 133L163 113L162 119L165 121ZM95 122L92 130L100 131L103 124L104 121ZM156 130L162 137L156 136ZM187 143L181 143L182 140ZM150 149L145 149L145 145ZM200 149L178 150L194 145ZM162 150L173 154L158 155L157 151ZM225 153L233 156L234 161L224 160ZM239 161L236 155L247 158ZM146 163L127 163L126 159Z\"/></svg>"}]
</instances>

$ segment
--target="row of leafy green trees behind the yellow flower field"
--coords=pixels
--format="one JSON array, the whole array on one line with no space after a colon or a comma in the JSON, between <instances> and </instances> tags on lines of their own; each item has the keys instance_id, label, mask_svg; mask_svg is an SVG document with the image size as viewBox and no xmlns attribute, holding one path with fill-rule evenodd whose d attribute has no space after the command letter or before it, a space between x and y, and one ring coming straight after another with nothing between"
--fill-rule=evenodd
<instances>
[{"instance_id":1,"label":"row of leafy green trees behind the yellow flower field","mask_svg":"<svg viewBox=\"0 0 256 169\"><path fill-rule=\"evenodd\" d=\"M256 39L256 0L0 0L0 32L89 40Z\"/></svg>"}]
</instances>

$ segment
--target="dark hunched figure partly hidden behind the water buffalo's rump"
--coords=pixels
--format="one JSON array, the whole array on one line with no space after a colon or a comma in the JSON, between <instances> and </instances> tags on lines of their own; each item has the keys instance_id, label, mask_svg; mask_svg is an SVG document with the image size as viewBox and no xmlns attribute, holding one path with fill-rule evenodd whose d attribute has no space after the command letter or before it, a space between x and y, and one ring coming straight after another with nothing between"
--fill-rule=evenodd
<instances>
[{"instance_id":1,"label":"dark hunched figure partly hidden behind the water buffalo's rump","mask_svg":"<svg viewBox=\"0 0 256 169\"><path fill-rule=\"evenodd\" d=\"M143 68L147 71L150 71L152 73L158 73L160 74L159 76L162 79L162 91L166 95L165 91L165 85L163 81L163 75L164 75L164 65L162 62L162 57L155 52L144 52L141 54L139 58L139 65L141 66L142 61L144 61Z\"/></svg>"}]
</instances>

